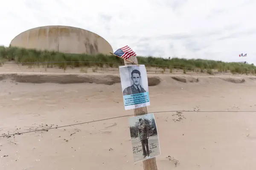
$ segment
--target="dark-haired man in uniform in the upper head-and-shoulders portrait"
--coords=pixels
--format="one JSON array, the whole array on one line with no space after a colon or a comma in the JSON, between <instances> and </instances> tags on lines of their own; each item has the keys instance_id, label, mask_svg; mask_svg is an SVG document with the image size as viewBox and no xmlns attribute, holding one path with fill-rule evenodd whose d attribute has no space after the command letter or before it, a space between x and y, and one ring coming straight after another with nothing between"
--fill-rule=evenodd
<instances>
[{"instance_id":1,"label":"dark-haired man in uniform in the upper head-and-shoulders portrait","mask_svg":"<svg viewBox=\"0 0 256 170\"><path fill-rule=\"evenodd\" d=\"M131 95L131 94L138 94L138 93L145 93L145 89L140 85L140 71L133 70L131 72L131 80L133 81L133 85L125 88L123 91L123 95Z\"/></svg>"}]
</instances>

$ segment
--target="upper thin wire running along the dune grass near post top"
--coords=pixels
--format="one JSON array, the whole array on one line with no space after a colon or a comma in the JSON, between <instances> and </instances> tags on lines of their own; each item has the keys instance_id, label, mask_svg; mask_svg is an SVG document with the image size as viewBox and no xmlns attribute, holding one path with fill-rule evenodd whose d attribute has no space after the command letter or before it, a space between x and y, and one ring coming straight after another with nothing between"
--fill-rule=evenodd
<instances>
[{"instance_id":1,"label":"upper thin wire running along the dune grass near post top","mask_svg":"<svg viewBox=\"0 0 256 170\"><path fill-rule=\"evenodd\" d=\"M47 64L47 63L102 63L102 64L119 64L119 65L125 65L125 63L120 63L120 62L97 62L97 61L53 61L53 62L0 62L1 64ZM128 63L133 65L133 63ZM234 74L225 74L221 72L212 72L212 71L207 71L203 70L200 68L192 68L192 67L182 67L182 66L175 66L175 65L159 65L159 64L148 64L148 63L138 63L138 64L143 64L143 65L154 65L154 66L159 66L159 67L173 67L173 68L186 68L186 69L191 69L191 70L197 70L197 71L204 71L207 72L208 74L223 74L223 75L228 75L228 76L236 76L236 77L244 77L244 78L256 78L256 77L247 77L247 76L241 76L241 75L234 75Z\"/></svg>"}]
</instances>

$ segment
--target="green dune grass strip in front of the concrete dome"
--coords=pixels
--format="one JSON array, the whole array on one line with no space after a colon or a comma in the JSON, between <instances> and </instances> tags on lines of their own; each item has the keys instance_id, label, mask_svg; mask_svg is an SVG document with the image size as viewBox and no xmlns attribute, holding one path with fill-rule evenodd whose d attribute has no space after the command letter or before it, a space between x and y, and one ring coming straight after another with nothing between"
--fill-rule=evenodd
<instances>
[{"instance_id":1,"label":"green dune grass strip in front of the concrete dome","mask_svg":"<svg viewBox=\"0 0 256 170\"><path fill-rule=\"evenodd\" d=\"M256 66L238 63L238 62L222 62L205 59L184 59L171 58L163 59L160 57L141 57L137 56L139 64L146 66L169 69L183 69L186 71L207 71L208 73L231 72L233 74L256 74ZM44 65L46 67L59 67L67 69L67 67L112 67L117 68L123 65L123 59L114 55L88 55L88 54L64 54L56 51L39 51L35 49L25 49L17 47L0 46L0 62L47 62L47 63L22 63L22 65Z\"/></svg>"}]
</instances>

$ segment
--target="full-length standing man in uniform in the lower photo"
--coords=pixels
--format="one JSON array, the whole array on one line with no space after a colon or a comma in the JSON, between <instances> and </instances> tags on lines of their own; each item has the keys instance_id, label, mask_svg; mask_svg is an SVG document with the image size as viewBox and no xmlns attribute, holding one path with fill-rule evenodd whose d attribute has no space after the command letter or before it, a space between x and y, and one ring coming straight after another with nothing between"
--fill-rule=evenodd
<instances>
[{"instance_id":1,"label":"full-length standing man in uniform in the lower photo","mask_svg":"<svg viewBox=\"0 0 256 170\"><path fill-rule=\"evenodd\" d=\"M148 148L148 138L149 138L149 130L148 125L143 121L143 119L139 119L140 125L138 128L138 137L142 144L143 156L144 158L149 158L149 148Z\"/></svg>"}]
</instances>

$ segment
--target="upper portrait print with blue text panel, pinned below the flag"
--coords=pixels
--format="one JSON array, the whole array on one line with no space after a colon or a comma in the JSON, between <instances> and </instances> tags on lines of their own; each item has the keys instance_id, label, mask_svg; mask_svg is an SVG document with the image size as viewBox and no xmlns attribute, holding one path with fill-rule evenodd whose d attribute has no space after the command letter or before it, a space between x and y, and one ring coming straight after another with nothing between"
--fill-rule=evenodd
<instances>
[{"instance_id":1,"label":"upper portrait print with blue text panel, pinned below the flag","mask_svg":"<svg viewBox=\"0 0 256 170\"><path fill-rule=\"evenodd\" d=\"M145 65L120 66L119 71L125 110L150 105Z\"/></svg>"}]
</instances>

